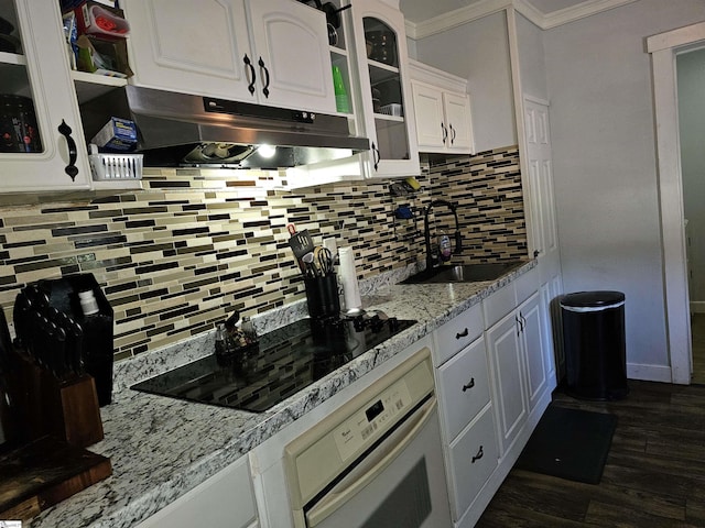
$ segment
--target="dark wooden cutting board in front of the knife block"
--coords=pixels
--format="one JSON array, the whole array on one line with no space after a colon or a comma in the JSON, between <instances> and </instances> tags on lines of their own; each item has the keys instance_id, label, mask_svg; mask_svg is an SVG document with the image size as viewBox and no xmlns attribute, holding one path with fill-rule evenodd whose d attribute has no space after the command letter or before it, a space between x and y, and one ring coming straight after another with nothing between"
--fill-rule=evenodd
<instances>
[{"instance_id":1,"label":"dark wooden cutting board in front of the knife block","mask_svg":"<svg viewBox=\"0 0 705 528\"><path fill-rule=\"evenodd\" d=\"M0 455L0 519L28 520L112 474L110 459L43 437Z\"/></svg>"}]
</instances>

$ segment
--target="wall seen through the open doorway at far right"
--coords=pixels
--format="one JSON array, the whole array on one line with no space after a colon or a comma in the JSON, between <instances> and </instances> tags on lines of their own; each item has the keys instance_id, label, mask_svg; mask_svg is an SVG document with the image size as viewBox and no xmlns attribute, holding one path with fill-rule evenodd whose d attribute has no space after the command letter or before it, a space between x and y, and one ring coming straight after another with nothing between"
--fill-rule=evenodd
<instances>
[{"instance_id":1,"label":"wall seen through the open doorway at far right","mask_svg":"<svg viewBox=\"0 0 705 528\"><path fill-rule=\"evenodd\" d=\"M688 220L690 295L693 308L705 310L705 50L679 55L679 127L683 204Z\"/></svg>"}]
</instances>

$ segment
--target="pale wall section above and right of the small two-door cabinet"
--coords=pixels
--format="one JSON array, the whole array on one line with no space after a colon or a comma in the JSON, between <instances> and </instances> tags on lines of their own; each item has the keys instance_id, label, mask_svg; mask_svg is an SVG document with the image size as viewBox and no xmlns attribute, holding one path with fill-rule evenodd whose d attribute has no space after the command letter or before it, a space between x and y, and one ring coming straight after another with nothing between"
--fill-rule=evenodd
<instances>
[{"instance_id":1,"label":"pale wall section above and right of the small two-door cabinet","mask_svg":"<svg viewBox=\"0 0 705 528\"><path fill-rule=\"evenodd\" d=\"M468 79L476 148L517 144L503 11L416 42L416 58Z\"/></svg>"}]
</instances>

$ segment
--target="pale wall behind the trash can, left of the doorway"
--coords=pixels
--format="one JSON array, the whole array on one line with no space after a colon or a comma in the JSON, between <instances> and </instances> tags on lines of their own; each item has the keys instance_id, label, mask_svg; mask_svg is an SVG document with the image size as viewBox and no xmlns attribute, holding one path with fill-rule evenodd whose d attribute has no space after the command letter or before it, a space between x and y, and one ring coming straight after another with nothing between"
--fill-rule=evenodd
<instances>
[{"instance_id":1,"label":"pale wall behind the trash can, left of the doorway","mask_svg":"<svg viewBox=\"0 0 705 528\"><path fill-rule=\"evenodd\" d=\"M702 0L640 0L543 35L565 290L626 294L630 377L670 381L644 37L702 20Z\"/></svg>"}]
</instances>

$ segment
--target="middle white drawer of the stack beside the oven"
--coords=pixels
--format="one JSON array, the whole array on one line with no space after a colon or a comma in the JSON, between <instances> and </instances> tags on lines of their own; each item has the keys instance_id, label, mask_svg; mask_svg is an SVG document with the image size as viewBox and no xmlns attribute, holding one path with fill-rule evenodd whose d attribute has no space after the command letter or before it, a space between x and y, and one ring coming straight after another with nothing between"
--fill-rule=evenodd
<instances>
[{"instance_id":1,"label":"middle white drawer of the stack beside the oven","mask_svg":"<svg viewBox=\"0 0 705 528\"><path fill-rule=\"evenodd\" d=\"M485 338L478 338L437 370L441 414L448 442L489 403Z\"/></svg>"}]
</instances>

